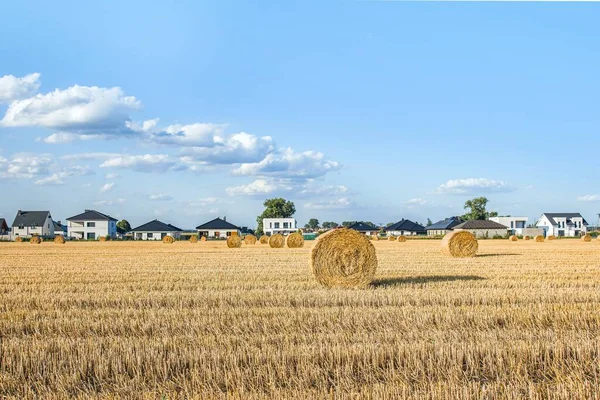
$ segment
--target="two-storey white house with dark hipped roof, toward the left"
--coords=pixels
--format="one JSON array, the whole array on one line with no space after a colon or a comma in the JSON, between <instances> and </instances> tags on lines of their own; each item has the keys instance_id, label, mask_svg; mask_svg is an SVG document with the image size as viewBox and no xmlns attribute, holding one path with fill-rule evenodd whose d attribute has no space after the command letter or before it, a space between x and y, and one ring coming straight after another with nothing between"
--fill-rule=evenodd
<instances>
[{"instance_id":1,"label":"two-storey white house with dark hipped roof, toward the left","mask_svg":"<svg viewBox=\"0 0 600 400\"><path fill-rule=\"evenodd\" d=\"M67 235L73 239L96 240L101 236L117 236L117 220L96 210L67 218Z\"/></svg>"}]
</instances>

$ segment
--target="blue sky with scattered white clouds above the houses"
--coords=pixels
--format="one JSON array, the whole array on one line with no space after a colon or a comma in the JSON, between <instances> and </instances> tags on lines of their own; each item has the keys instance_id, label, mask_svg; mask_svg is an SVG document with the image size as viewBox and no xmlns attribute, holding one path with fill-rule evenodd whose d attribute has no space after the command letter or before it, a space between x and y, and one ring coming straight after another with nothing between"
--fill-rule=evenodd
<instances>
[{"instance_id":1,"label":"blue sky with scattered white clouds above the houses","mask_svg":"<svg viewBox=\"0 0 600 400\"><path fill-rule=\"evenodd\" d=\"M88 3L3 4L9 221L598 219L600 5Z\"/></svg>"}]
</instances>

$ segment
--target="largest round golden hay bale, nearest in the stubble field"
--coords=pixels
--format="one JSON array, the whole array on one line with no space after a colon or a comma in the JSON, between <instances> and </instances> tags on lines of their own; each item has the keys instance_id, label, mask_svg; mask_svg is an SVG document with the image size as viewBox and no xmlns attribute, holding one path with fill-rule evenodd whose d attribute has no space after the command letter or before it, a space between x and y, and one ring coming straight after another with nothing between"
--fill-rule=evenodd
<instances>
[{"instance_id":1,"label":"largest round golden hay bale, nearest in the stubble field","mask_svg":"<svg viewBox=\"0 0 600 400\"><path fill-rule=\"evenodd\" d=\"M353 229L335 229L319 237L310 261L315 278L327 287L365 287L377 270L375 246Z\"/></svg>"}]
</instances>

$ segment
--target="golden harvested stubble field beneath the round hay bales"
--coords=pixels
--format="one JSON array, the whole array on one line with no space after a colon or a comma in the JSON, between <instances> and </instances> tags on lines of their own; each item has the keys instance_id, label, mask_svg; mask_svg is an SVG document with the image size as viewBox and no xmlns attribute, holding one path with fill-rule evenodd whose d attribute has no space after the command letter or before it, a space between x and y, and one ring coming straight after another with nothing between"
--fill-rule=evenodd
<instances>
[{"instance_id":1,"label":"golden harvested stubble field beneath the round hay bales","mask_svg":"<svg viewBox=\"0 0 600 400\"><path fill-rule=\"evenodd\" d=\"M598 398L599 241L374 245L331 290L310 242L0 244L0 398Z\"/></svg>"}]
</instances>

